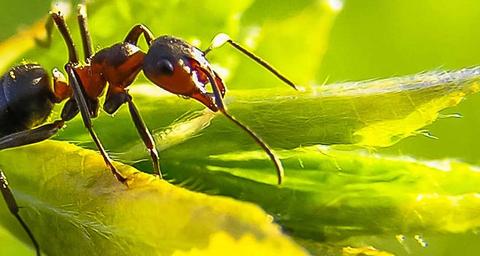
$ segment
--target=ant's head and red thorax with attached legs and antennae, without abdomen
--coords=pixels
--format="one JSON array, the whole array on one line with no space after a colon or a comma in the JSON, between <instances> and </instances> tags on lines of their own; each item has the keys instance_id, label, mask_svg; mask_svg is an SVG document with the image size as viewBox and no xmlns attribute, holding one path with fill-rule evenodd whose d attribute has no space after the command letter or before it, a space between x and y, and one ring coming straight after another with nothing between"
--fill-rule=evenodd
<instances>
[{"instance_id":1,"label":"ant's head and red thorax with attached legs and antennae, without abdomen","mask_svg":"<svg viewBox=\"0 0 480 256\"><path fill-rule=\"evenodd\" d=\"M227 112L223 102L226 92L225 84L213 70L205 56L211 50L229 43L268 69L283 82L297 89L294 83L267 62L234 42L225 34L217 35L207 50L201 51L182 39L172 36L161 36L155 39L153 33L141 24L134 26L123 42L104 48L94 54L88 31L86 7L84 4L80 4L78 23L85 55L84 63L80 64L73 39L61 12L52 12L51 17L68 49L69 59L65 65L65 71L73 89L73 98L70 98L65 104L62 111L62 119L70 120L78 112L81 113L85 127L90 132L105 162L119 181L125 182L125 178L118 173L111 163L93 130L91 122L91 118L98 115L98 98L105 87L107 87L107 84L108 89L103 109L108 114L114 114L121 105L125 103L128 105L135 127L147 150L150 152L155 174L162 177L153 137L133 103L132 96L128 93L128 86L133 83L138 73L143 70L145 76L155 85L171 93L196 99L214 112L220 111L225 117L247 132L274 163L278 184L282 183L283 167L277 156L255 132ZM149 46L147 53L144 53L137 46L141 35L144 36ZM207 92L207 84L211 85L213 93Z\"/></svg>"}]
</instances>

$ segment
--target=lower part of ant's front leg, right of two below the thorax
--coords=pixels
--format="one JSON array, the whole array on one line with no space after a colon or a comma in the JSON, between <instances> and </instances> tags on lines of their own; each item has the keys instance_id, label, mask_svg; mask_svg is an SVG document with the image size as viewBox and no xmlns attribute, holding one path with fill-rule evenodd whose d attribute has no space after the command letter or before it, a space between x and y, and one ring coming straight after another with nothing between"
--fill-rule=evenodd
<instances>
[{"instance_id":1,"label":"lower part of ant's front leg, right of two below the thorax","mask_svg":"<svg viewBox=\"0 0 480 256\"><path fill-rule=\"evenodd\" d=\"M143 140L145 147L147 147L150 157L152 158L153 170L158 177L162 178L162 172L160 171L160 164L158 158L158 152L155 147L155 141L153 140L152 134L148 130L145 122L142 119L142 116L138 112L137 107L133 103L132 96L128 95L128 110L130 111L130 116L132 117L135 127L137 128L138 134Z\"/></svg>"}]
</instances>

